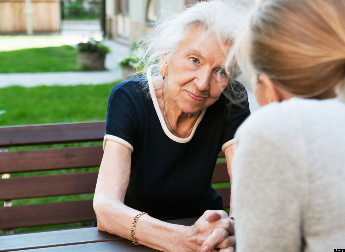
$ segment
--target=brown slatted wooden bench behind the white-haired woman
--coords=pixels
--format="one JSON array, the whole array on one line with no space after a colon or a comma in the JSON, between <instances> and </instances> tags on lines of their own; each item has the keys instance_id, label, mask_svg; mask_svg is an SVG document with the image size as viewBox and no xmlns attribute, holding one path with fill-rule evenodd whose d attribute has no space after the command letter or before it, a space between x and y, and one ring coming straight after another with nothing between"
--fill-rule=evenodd
<instances>
[{"instance_id":1,"label":"brown slatted wooden bench behind the white-haired woman","mask_svg":"<svg viewBox=\"0 0 345 252\"><path fill-rule=\"evenodd\" d=\"M21 177L13 177L13 174L99 167L103 155L101 143L85 147L61 144L103 141L104 132L104 121L0 127L0 201L6 206L0 206L0 230L94 220L92 199L20 206L11 206L11 200L92 194L98 172ZM46 146L52 144L60 145L47 149ZM40 149L11 150L11 147L20 146ZM218 157L224 157L224 153L220 152ZM212 183L228 181L226 163L218 163ZM230 188L218 188L217 191L227 207Z\"/></svg>"}]
</instances>

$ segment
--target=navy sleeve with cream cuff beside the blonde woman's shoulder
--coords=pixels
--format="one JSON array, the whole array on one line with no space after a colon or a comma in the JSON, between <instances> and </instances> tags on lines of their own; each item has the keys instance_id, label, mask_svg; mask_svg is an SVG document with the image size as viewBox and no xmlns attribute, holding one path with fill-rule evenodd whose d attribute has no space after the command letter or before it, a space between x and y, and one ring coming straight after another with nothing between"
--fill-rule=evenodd
<instances>
[{"instance_id":1,"label":"navy sleeve with cream cuff beside the blonde woman's shoulder","mask_svg":"<svg viewBox=\"0 0 345 252\"><path fill-rule=\"evenodd\" d=\"M233 104L228 100L225 104L224 117L226 119L226 124L223 129L223 139L221 141L222 151L224 151L226 147L235 143L234 136L236 130L250 115L247 91L239 82L236 82L235 85L237 85L237 88L243 94L243 97L239 104Z\"/></svg>"}]
</instances>

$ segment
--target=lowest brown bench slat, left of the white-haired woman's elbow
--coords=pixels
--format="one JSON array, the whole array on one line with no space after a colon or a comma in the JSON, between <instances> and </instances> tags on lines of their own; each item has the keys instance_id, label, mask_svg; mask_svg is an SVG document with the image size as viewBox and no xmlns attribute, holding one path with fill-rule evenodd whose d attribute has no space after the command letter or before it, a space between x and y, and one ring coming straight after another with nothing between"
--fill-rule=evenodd
<instances>
[{"instance_id":1,"label":"lowest brown bench slat, left of the white-haired woman's elbow","mask_svg":"<svg viewBox=\"0 0 345 252\"><path fill-rule=\"evenodd\" d=\"M0 207L0 229L84 222L96 218L93 200Z\"/></svg>"}]
</instances>

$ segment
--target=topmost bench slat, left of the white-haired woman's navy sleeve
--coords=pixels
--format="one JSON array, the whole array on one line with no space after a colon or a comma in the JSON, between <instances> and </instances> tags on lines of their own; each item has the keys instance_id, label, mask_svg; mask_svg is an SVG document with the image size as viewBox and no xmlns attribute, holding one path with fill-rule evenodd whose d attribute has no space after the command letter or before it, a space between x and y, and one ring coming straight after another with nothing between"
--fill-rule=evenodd
<instances>
[{"instance_id":1,"label":"topmost bench slat, left of the white-haired woman's navy sleeve","mask_svg":"<svg viewBox=\"0 0 345 252\"><path fill-rule=\"evenodd\" d=\"M105 128L104 121L0 127L0 148L102 141Z\"/></svg>"}]
</instances>

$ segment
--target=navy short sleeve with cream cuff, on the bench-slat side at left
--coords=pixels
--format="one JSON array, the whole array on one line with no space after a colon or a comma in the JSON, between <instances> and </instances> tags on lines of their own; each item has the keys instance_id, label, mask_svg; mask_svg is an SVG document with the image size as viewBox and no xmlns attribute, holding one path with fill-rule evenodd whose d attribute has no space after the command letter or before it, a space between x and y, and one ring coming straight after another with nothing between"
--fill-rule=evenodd
<instances>
[{"instance_id":1,"label":"navy short sleeve with cream cuff, on the bench-slat side at left","mask_svg":"<svg viewBox=\"0 0 345 252\"><path fill-rule=\"evenodd\" d=\"M140 93L133 82L122 82L112 88L107 105L103 148L107 140L112 140L134 150L140 100Z\"/></svg>"}]
</instances>

